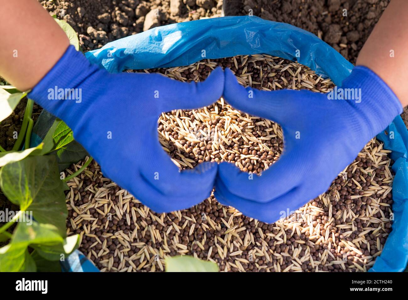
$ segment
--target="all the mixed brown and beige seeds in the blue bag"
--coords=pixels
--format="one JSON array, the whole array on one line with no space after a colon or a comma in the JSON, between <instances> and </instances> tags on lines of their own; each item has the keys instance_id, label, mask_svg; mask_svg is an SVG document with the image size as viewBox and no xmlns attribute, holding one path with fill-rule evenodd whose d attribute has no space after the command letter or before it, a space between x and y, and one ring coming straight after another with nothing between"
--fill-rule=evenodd
<instances>
[{"instance_id":1,"label":"all the mixed brown and beige seeds in the blue bag","mask_svg":"<svg viewBox=\"0 0 408 300\"><path fill-rule=\"evenodd\" d=\"M307 67L260 55L144 71L204 80L217 65L231 67L245 86L316 92L333 87ZM222 99L194 111L163 113L158 131L182 169L226 160L260 173L283 147L278 124L239 112ZM382 147L373 138L326 193L273 224L243 216L213 196L190 209L154 213L92 162L68 182L67 233L80 233L80 251L101 271L163 271L164 258L180 254L216 262L222 271L367 271L381 254L393 219L392 161Z\"/></svg>"}]
</instances>

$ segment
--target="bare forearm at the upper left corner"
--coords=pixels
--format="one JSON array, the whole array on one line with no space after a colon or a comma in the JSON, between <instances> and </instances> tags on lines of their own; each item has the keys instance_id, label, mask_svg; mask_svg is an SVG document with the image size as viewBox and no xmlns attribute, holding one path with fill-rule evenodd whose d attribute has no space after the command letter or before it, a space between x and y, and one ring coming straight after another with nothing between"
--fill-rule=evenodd
<instances>
[{"instance_id":1,"label":"bare forearm at the upper left corner","mask_svg":"<svg viewBox=\"0 0 408 300\"><path fill-rule=\"evenodd\" d=\"M37 0L0 0L0 75L31 89L69 46L64 31Z\"/></svg>"}]
</instances>

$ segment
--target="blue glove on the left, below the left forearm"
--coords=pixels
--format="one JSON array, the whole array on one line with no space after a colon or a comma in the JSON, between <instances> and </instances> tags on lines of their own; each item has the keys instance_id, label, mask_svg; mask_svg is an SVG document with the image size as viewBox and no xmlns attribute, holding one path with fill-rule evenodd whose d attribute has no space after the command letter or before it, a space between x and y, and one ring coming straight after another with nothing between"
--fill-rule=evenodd
<instances>
[{"instance_id":1,"label":"blue glove on the left, below the left forearm","mask_svg":"<svg viewBox=\"0 0 408 300\"><path fill-rule=\"evenodd\" d=\"M55 86L76 89L82 98L52 99ZM180 172L159 143L160 113L210 105L223 89L222 69L198 84L161 74L111 74L70 46L28 97L67 123L105 176L154 211L168 212L209 197L217 164Z\"/></svg>"}]
</instances>

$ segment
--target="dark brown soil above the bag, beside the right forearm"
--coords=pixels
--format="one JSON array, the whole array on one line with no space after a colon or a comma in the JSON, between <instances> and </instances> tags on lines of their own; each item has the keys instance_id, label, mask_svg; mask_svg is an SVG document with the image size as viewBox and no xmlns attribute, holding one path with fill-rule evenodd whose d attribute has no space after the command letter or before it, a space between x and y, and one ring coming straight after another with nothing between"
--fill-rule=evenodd
<instances>
[{"instance_id":1,"label":"dark brown soil above the bag, beside the right forearm","mask_svg":"<svg viewBox=\"0 0 408 300\"><path fill-rule=\"evenodd\" d=\"M226 0L226 15L284 22L321 37L355 63L389 0ZM343 16L347 13L347 16Z\"/></svg>"}]
</instances>

